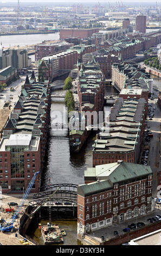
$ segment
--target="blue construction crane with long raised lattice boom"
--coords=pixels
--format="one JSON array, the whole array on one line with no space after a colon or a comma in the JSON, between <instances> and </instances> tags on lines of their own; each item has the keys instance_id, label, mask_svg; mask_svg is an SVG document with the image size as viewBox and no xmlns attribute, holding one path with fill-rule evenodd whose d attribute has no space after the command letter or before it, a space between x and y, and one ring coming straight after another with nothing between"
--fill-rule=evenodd
<instances>
[{"instance_id":1,"label":"blue construction crane with long raised lattice boom","mask_svg":"<svg viewBox=\"0 0 161 256\"><path fill-rule=\"evenodd\" d=\"M20 204L18 205L17 210L16 210L15 214L12 216L11 220L10 220L8 223L6 223L5 225L2 225L2 224L0 225L0 230L1 230L2 232L4 232L4 231L11 231L11 229L14 228L14 225L13 225L13 224L14 224L14 222L15 222L15 220L16 220L18 214L19 214L19 212L21 211L22 206L24 205L24 202L25 202L25 200L27 199L28 194L30 193L31 188L32 188L33 185L34 185L34 182L35 182L35 179L36 179L36 175L37 175L38 173L40 173L40 172L36 172L36 173L34 174L33 178L30 180L30 183L29 183L29 185L28 185L28 187L27 187L27 190L25 191L25 193L24 193L24 195L23 195L23 197L22 197L22 199L21 199L21 202L20 202Z\"/></svg>"}]
</instances>

